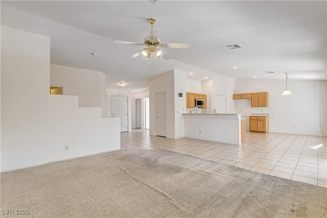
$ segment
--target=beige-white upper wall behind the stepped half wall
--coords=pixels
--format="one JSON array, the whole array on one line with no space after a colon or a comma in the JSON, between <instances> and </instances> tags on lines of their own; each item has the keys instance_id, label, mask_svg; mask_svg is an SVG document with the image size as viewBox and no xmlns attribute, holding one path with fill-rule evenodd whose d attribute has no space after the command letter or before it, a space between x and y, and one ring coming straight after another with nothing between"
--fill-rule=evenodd
<instances>
[{"instance_id":1,"label":"beige-white upper wall behind the stepped half wall","mask_svg":"<svg viewBox=\"0 0 327 218\"><path fill-rule=\"evenodd\" d=\"M64 95L78 96L80 107L102 107L105 117L106 77L103 73L50 64L50 83L64 85Z\"/></svg>"}]
</instances>

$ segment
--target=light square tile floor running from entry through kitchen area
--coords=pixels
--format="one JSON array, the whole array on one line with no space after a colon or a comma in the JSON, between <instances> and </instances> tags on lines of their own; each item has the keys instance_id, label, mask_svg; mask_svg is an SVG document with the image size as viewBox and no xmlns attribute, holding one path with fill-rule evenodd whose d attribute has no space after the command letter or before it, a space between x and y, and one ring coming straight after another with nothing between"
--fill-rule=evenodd
<instances>
[{"instance_id":1,"label":"light square tile floor running from entry through kitchen area","mask_svg":"<svg viewBox=\"0 0 327 218\"><path fill-rule=\"evenodd\" d=\"M280 133L246 132L242 145L190 138L150 136L149 130L121 133L121 149L166 149L268 175L327 188L327 138Z\"/></svg>"}]
</instances>

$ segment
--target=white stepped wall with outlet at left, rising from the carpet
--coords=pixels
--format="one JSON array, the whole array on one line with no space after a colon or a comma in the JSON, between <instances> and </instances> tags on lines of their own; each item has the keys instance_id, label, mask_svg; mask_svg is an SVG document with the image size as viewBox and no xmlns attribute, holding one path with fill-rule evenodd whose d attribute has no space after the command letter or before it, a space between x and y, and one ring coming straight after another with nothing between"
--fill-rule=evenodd
<instances>
[{"instance_id":1,"label":"white stepped wall with outlet at left, rising from the carpet","mask_svg":"<svg viewBox=\"0 0 327 218\"><path fill-rule=\"evenodd\" d=\"M120 149L119 119L49 94L49 37L1 26L1 39L1 171Z\"/></svg>"}]
</instances>

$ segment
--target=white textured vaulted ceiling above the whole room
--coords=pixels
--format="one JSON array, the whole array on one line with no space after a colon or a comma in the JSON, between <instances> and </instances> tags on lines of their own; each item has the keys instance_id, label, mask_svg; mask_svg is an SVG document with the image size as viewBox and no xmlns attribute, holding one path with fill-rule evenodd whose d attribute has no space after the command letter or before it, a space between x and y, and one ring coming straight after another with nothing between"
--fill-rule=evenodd
<instances>
[{"instance_id":1,"label":"white textured vaulted ceiling above the whole room","mask_svg":"<svg viewBox=\"0 0 327 218\"><path fill-rule=\"evenodd\" d=\"M51 63L103 72L107 88L147 89L172 69L188 78L326 80L326 1L1 1L1 25L51 37ZM154 17L172 59L130 58ZM243 48L229 50L225 45ZM92 56L96 52L98 56ZM153 56L153 55L152 55ZM233 69L237 66L238 69ZM267 74L273 71L274 74Z\"/></svg>"}]
</instances>

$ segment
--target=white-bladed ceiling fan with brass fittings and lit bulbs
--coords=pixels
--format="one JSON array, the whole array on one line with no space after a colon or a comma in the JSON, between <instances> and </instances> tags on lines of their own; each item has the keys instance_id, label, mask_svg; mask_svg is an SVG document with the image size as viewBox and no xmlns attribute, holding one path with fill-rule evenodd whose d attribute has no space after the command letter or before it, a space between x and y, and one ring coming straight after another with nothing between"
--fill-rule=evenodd
<instances>
[{"instance_id":1,"label":"white-bladed ceiling fan with brass fittings and lit bulbs","mask_svg":"<svg viewBox=\"0 0 327 218\"><path fill-rule=\"evenodd\" d=\"M170 59L171 57L167 55L164 51L157 47L162 48L178 48L178 49L188 49L190 48L189 42L180 42L180 43L161 43L158 38L160 30L153 29L153 24L156 22L156 19L149 18L148 22L151 24L151 28L149 29L149 36L144 38L144 42L133 42L133 41L120 41L115 40L114 43L126 44L126 45L139 45L139 46L148 46L148 48L142 49L141 51L136 52L131 58L138 57L139 55L143 55L146 59L150 59L150 55L152 52L155 53L157 58L163 57L164 59Z\"/></svg>"}]
</instances>

